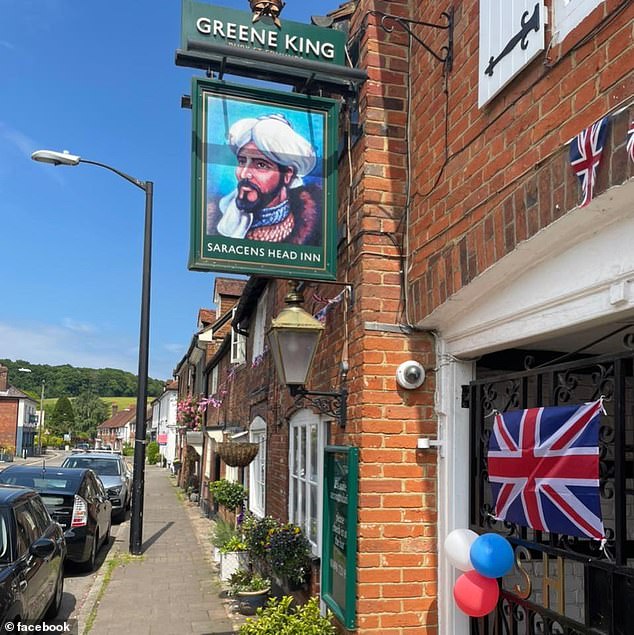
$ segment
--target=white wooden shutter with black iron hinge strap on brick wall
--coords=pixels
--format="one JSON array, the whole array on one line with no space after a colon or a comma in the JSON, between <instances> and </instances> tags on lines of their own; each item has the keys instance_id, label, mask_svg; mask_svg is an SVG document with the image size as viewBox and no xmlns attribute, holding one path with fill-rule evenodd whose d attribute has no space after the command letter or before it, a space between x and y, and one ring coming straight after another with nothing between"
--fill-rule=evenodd
<instances>
[{"instance_id":1,"label":"white wooden shutter with black iron hinge strap on brick wall","mask_svg":"<svg viewBox=\"0 0 634 635\"><path fill-rule=\"evenodd\" d=\"M544 0L480 0L478 107L544 50L545 23Z\"/></svg>"}]
</instances>

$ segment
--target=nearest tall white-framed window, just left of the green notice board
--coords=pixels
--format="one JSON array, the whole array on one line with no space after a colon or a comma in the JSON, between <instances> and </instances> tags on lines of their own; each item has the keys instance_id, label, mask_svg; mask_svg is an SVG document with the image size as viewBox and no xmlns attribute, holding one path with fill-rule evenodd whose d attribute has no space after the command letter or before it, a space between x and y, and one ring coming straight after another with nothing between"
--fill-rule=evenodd
<instances>
[{"instance_id":1,"label":"nearest tall white-framed window, just left of the green notice board","mask_svg":"<svg viewBox=\"0 0 634 635\"><path fill-rule=\"evenodd\" d=\"M289 519L310 541L313 554L321 549L321 498L325 424L319 415L301 410L290 423Z\"/></svg>"}]
</instances>

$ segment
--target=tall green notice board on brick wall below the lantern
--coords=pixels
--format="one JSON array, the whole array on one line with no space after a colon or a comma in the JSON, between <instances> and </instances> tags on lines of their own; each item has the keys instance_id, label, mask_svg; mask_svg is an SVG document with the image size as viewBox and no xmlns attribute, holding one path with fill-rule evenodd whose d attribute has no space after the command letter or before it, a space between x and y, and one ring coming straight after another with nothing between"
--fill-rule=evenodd
<instances>
[{"instance_id":1,"label":"tall green notice board on brick wall below the lantern","mask_svg":"<svg viewBox=\"0 0 634 635\"><path fill-rule=\"evenodd\" d=\"M355 628L356 617L358 493L358 448L327 446L321 594L346 628Z\"/></svg>"}]
</instances>

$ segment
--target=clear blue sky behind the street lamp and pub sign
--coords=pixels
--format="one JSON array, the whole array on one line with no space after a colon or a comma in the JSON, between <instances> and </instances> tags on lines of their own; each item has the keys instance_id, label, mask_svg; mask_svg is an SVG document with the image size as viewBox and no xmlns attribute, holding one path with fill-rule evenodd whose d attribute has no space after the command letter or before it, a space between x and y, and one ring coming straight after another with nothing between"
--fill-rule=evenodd
<instances>
[{"instance_id":1,"label":"clear blue sky behind the street lamp and pub sign","mask_svg":"<svg viewBox=\"0 0 634 635\"><path fill-rule=\"evenodd\" d=\"M341 1L288 0L282 17ZM154 182L151 377L171 377L213 307L214 274L187 269L180 98L202 73L174 64L180 12L180 0L0 0L0 358L137 371L144 193L94 166L35 163L38 149Z\"/></svg>"}]
</instances>

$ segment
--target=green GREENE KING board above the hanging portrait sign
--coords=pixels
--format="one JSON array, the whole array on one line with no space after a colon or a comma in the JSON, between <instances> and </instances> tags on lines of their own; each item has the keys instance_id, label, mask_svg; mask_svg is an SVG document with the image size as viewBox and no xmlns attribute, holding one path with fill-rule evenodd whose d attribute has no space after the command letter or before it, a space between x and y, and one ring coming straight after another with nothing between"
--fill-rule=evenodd
<instances>
[{"instance_id":1,"label":"green GREENE KING board above the hanging portrait sign","mask_svg":"<svg viewBox=\"0 0 634 635\"><path fill-rule=\"evenodd\" d=\"M345 35L334 29L282 20L278 29L270 21L251 21L251 13L183 0L182 47L212 42L266 51L285 57L343 65Z\"/></svg>"}]
</instances>

